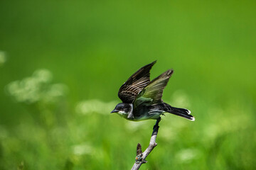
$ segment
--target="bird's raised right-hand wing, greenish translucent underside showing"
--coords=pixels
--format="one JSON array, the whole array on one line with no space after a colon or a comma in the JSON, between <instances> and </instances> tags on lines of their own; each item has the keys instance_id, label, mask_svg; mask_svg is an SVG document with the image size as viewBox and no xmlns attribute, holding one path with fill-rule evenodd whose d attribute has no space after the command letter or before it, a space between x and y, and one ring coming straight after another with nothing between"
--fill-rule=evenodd
<instances>
[{"instance_id":1,"label":"bird's raised right-hand wing, greenish translucent underside showing","mask_svg":"<svg viewBox=\"0 0 256 170\"><path fill-rule=\"evenodd\" d=\"M156 77L156 79L152 80L135 98L134 108L161 103L164 88L173 73L174 70L169 69L159 77Z\"/></svg>"}]
</instances>

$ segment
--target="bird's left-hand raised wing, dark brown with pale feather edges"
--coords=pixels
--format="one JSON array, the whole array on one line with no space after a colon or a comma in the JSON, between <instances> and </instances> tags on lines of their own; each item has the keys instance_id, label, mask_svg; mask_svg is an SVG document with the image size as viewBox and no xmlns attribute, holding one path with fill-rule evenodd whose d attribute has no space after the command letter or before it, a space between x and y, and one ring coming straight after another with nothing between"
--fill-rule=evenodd
<instances>
[{"instance_id":1,"label":"bird's left-hand raised wing, dark brown with pale feather edges","mask_svg":"<svg viewBox=\"0 0 256 170\"><path fill-rule=\"evenodd\" d=\"M123 103L132 103L142 89L150 82L150 69L156 61L145 65L137 72L132 74L131 77L120 87L118 96Z\"/></svg>"}]
</instances>

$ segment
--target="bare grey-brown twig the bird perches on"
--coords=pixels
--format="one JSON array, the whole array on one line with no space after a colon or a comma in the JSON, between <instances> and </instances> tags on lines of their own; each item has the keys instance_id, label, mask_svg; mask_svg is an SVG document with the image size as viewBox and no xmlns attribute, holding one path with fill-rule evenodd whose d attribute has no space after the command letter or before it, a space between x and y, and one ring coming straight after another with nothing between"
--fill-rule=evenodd
<instances>
[{"instance_id":1,"label":"bare grey-brown twig the bird perches on","mask_svg":"<svg viewBox=\"0 0 256 170\"><path fill-rule=\"evenodd\" d=\"M154 149L154 147L156 147L156 136L157 136L157 132L159 130L159 122L160 122L161 118L158 118L156 120L156 125L154 125L154 128L153 128L153 132L152 132L152 135L151 135L151 139L150 139L150 142L149 142L149 147L146 148L146 150L142 153L142 145L140 145L138 143L137 145L137 157L135 159L135 163L134 165L132 166L132 170L135 170L135 169L139 169L139 167L146 163L146 157L150 154L150 152Z\"/></svg>"}]
</instances>

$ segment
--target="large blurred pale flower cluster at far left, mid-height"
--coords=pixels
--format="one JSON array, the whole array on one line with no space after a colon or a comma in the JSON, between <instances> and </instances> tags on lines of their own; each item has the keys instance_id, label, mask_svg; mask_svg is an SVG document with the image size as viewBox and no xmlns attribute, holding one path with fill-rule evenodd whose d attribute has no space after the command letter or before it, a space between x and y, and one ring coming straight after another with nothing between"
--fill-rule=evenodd
<instances>
[{"instance_id":1,"label":"large blurred pale flower cluster at far left, mid-height","mask_svg":"<svg viewBox=\"0 0 256 170\"><path fill-rule=\"evenodd\" d=\"M54 103L61 96L65 96L68 88L64 84L50 84L51 80L50 71L38 69L32 77L9 83L6 90L17 102L31 104L43 101Z\"/></svg>"}]
</instances>

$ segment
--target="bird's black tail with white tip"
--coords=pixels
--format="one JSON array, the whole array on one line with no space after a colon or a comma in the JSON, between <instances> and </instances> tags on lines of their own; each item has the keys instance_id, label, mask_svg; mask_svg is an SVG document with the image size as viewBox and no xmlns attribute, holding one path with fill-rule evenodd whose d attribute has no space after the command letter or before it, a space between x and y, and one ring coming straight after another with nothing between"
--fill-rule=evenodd
<instances>
[{"instance_id":1,"label":"bird's black tail with white tip","mask_svg":"<svg viewBox=\"0 0 256 170\"><path fill-rule=\"evenodd\" d=\"M167 103L164 103L164 104L165 104L166 112L172 113L174 115L181 116L182 118L186 118L188 120L192 120L192 121L195 120L193 115L190 114L191 111L188 111L188 109L186 109L186 108L174 108L172 106L169 106L169 104L167 104Z\"/></svg>"}]
</instances>

